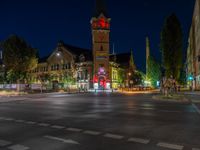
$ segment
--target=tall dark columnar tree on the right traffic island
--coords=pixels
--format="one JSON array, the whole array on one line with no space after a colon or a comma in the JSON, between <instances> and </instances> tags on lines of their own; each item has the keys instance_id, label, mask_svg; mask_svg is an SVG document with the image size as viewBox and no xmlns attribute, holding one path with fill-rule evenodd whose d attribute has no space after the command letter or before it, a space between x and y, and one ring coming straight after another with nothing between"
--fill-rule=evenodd
<instances>
[{"instance_id":1,"label":"tall dark columnar tree on the right traffic island","mask_svg":"<svg viewBox=\"0 0 200 150\"><path fill-rule=\"evenodd\" d=\"M162 65L165 76L179 80L182 64L183 33L175 14L166 18L161 32Z\"/></svg>"}]
</instances>

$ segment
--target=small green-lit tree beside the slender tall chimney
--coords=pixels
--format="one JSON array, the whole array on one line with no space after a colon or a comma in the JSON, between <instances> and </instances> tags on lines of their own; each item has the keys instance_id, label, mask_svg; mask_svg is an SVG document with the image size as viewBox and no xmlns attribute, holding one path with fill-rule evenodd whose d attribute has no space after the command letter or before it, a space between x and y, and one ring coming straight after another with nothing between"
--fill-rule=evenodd
<instances>
[{"instance_id":1,"label":"small green-lit tree beside the slender tall chimney","mask_svg":"<svg viewBox=\"0 0 200 150\"><path fill-rule=\"evenodd\" d=\"M153 87L156 87L157 81L160 81L161 78L161 66L152 56L149 56L147 64L147 79L150 80Z\"/></svg>"}]
</instances>

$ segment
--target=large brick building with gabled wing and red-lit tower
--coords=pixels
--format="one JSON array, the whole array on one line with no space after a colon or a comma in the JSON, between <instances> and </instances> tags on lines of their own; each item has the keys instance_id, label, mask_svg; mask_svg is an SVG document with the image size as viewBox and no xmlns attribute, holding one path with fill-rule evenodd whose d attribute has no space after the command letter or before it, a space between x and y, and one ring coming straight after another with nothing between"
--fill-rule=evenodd
<instances>
[{"instance_id":1,"label":"large brick building with gabled wing and red-lit tower","mask_svg":"<svg viewBox=\"0 0 200 150\"><path fill-rule=\"evenodd\" d=\"M32 83L49 88L111 89L125 86L130 53L110 54L110 21L103 0L96 0L91 19L92 50L60 41L30 73Z\"/></svg>"}]
</instances>

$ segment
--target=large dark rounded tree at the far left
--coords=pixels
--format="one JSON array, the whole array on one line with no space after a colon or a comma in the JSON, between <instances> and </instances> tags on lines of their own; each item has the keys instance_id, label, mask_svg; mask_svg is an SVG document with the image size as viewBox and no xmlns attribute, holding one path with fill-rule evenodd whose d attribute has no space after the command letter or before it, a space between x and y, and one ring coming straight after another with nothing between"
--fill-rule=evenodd
<instances>
[{"instance_id":1,"label":"large dark rounded tree at the far left","mask_svg":"<svg viewBox=\"0 0 200 150\"><path fill-rule=\"evenodd\" d=\"M14 82L26 78L27 73L37 66L37 51L17 35L8 37L2 43L5 69L10 73Z\"/></svg>"}]
</instances>

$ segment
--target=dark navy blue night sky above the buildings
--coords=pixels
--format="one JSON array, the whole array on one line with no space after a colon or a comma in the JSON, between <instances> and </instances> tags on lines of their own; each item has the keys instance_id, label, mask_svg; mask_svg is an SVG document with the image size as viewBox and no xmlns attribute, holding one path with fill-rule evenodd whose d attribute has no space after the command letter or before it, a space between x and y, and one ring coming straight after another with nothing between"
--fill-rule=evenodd
<instances>
[{"instance_id":1,"label":"dark navy blue night sky above the buildings","mask_svg":"<svg viewBox=\"0 0 200 150\"><path fill-rule=\"evenodd\" d=\"M166 16L176 13L184 32L185 47L195 0L106 0L111 17L111 45L118 53L133 49L139 69L145 67L145 37L151 54L160 59L160 31ZM95 0L1 0L0 40L17 34L41 56L59 40L91 49L90 19ZM111 46L112 47L112 46Z\"/></svg>"}]
</instances>

